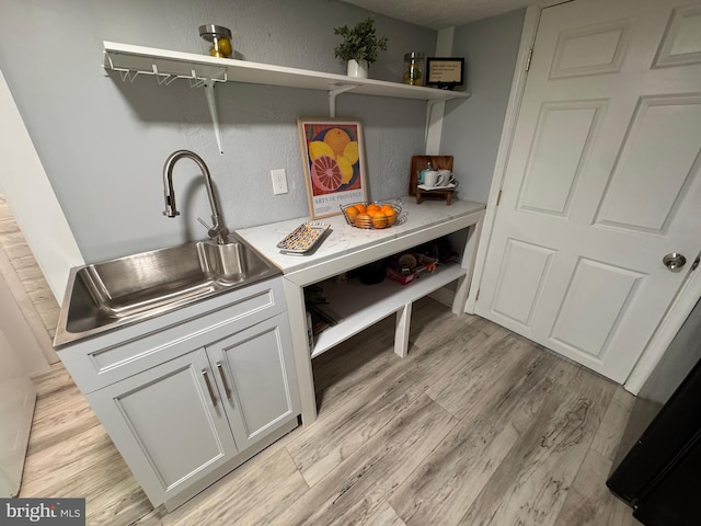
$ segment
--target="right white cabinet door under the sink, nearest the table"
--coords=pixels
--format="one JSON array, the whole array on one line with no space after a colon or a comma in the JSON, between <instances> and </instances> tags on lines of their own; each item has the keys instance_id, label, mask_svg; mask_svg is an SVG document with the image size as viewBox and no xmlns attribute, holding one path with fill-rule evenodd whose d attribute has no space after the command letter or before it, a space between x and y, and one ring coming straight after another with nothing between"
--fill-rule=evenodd
<instances>
[{"instance_id":1,"label":"right white cabinet door under the sink, nearest the table","mask_svg":"<svg viewBox=\"0 0 701 526\"><path fill-rule=\"evenodd\" d=\"M239 449L297 418L287 313L207 346L207 354Z\"/></svg>"}]
</instances>

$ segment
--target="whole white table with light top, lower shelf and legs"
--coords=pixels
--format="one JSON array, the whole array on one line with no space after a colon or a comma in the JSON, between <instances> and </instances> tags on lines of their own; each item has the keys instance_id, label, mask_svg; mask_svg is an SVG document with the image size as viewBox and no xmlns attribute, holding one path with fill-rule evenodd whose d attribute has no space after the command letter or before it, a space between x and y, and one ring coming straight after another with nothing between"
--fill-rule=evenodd
<instances>
[{"instance_id":1,"label":"whole white table with light top, lower shelf and legs","mask_svg":"<svg viewBox=\"0 0 701 526\"><path fill-rule=\"evenodd\" d=\"M343 216L323 219L331 225L331 232L309 255L281 254L275 247L309 218L302 217L237 231L283 271L304 425L317 419L312 375L312 359L315 356L393 312L397 312L394 351L399 356L406 356L412 302L456 281L458 285L452 311L456 315L466 311L485 205L468 201L453 201L450 206L439 201L417 205L414 198L409 196L402 201L402 222L381 230L352 227ZM345 302L345 310L340 311L343 321L322 332L310 353L304 306L306 286L466 229L467 243L460 263L440 266L435 273L424 275L420 281L406 286L386 281L387 283L381 285L367 287L372 288L372 291L361 295L366 298L365 302ZM343 290L332 294L343 294ZM350 296L359 295L344 297Z\"/></svg>"}]
</instances>

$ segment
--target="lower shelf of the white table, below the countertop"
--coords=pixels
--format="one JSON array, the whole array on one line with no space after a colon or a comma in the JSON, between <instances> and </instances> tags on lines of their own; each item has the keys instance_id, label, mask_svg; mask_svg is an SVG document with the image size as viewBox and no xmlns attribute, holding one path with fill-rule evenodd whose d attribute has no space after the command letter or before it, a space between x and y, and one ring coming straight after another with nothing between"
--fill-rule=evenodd
<instances>
[{"instance_id":1,"label":"lower shelf of the white table, below the countertop","mask_svg":"<svg viewBox=\"0 0 701 526\"><path fill-rule=\"evenodd\" d=\"M325 353L344 340L397 312L406 304L416 301L464 275L466 270L455 263L439 266L430 274L422 273L421 277L409 285L401 285L388 278L377 285L363 285L353 281L319 283L329 300L329 306L341 317L341 321L315 336L311 357Z\"/></svg>"}]
</instances>

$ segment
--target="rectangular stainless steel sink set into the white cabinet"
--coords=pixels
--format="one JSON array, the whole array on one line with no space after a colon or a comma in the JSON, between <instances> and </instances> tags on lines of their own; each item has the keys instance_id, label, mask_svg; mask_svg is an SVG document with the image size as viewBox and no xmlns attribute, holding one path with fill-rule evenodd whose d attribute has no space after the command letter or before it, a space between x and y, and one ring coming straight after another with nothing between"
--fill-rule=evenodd
<instances>
[{"instance_id":1,"label":"rectangular stainless steel sink set into the white cabinet","mask_svg":"<svg viewBox=\"0 0 701 526\"><path fill-rule=\"evenodd\" d=\"M55 346L169 312L279 274L233 235L71 271Z\"/></svg>"}]
</instances>

